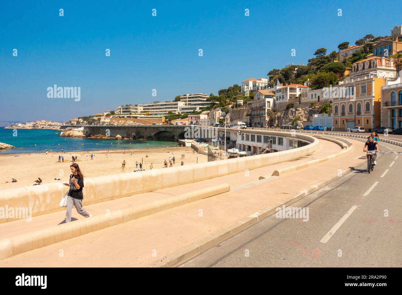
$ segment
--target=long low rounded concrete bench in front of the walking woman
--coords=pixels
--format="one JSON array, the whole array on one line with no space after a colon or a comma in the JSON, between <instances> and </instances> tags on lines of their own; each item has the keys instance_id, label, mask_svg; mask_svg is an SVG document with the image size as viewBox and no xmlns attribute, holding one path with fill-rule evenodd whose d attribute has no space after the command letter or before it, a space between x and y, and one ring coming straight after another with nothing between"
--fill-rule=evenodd
<instances>
[{"instance_id":1,"label":"long low rounded concrete bench in front of the walking woman","mask_svg":"<svg viewBox=\"0 0 402 295\"><path fill-rule=\"evenodd\" d=\"M228 183L0 240L0 260L230 191Z\"/></svg>"}]
</instances>

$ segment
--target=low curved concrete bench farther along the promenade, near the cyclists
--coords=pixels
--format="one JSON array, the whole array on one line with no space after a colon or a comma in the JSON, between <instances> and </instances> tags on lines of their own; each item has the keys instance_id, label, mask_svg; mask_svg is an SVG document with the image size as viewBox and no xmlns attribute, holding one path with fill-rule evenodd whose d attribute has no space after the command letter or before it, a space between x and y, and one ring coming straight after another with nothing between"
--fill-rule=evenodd
<instances>
[{"instance_id":1,"label":"low curved concrete bench farther along the promenade, near the cyclists","mask_svg":"<svg viewBox=\"0 0 402 295\"><path fill-rule=\"evenodd\" d=\"M321 158L321 159L315 159L315 160L308 161L308 162L303 163L303 164L294 165L294 166L291 166L291 167L275 170L272 173L272 175L263 175L263 176L260 176L258 179L261 180L261 179L269 178L271 176L282 176L282 175L285 175L287 173L292 173L292 172L295 172L295 171L299 171L301 169L305 169L305 168L308 168L308 167L311 167L311 166L314 166L314 165L317 165L317 164L324 163L326 161L336 159L337 157L340 157L342 155L345 155L345 154L349 153L353 149L353 144L351 142L343 139L343 138L342 138L342 140L337 140L338 138L333 138L331 136L328 136L328 137L327 136L318 136L318 137L322 138L324 140L328 140L328 141L331 141L331 142L334 142L334 143L338 144L339 146L342 147L342 150L339 153L329 155L329 156L326 156L326 157Z\"/></svg>"}]
</instances>

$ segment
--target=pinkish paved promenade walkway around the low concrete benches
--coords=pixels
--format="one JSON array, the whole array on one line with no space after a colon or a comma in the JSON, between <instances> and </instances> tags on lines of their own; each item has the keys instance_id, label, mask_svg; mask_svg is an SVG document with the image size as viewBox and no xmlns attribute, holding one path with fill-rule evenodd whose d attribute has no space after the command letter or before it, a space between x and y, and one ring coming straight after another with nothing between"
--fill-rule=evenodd
<instances>
[{"instance_id":1,"label":"pinkish paved promenade walkway around the low concrete benches","mask_svg":"<svg viewBox=\"0 0 402 295\"><path fill-rule=\"evenodd\" d=\"M338 144L320 139L319 149L307 157L177 187L133 195L86 206L90 214L127 208L193 191L219 183L229 183L231 191L152 214L137 220L98 230L14 257L0 260L0 267L143 267L241 220L289 195L328 179L340 170L365 161L363 142L348 138L354 148L335 160L289 173L258 180L273 171L320 159L341 151ZM23 234L59 224L65 212L0 224L0 238ZM81 219L73 209L73 218ZM60 250L63 256L60 257Z\"/></svg>"}]
</instances>

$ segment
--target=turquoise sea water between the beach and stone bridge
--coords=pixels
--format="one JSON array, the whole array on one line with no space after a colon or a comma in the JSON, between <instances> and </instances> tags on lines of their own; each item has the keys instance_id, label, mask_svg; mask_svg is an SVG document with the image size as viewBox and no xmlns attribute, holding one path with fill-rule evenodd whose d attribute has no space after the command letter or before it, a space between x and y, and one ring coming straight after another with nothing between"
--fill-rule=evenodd
<instances>
[{"instance_id":1,"label":"turquoise sea water between the beach and stone bridge","mask_svg":"<svg viewBox=\"0 0 402 295\"><path fill-rule=\"evenodd\" d=\"M14 149L0 150L0 154L45 153L64 151L96 151L111 149L151 149L160 146L176 146L178 142L157 140L108 140L92 138L60 137L57 130L13 129L0 127L0 142L15 146ZM131 144L130 144L131 143ZM23 148L23 149L19 149Z\"/></svg>"}]
</instances>

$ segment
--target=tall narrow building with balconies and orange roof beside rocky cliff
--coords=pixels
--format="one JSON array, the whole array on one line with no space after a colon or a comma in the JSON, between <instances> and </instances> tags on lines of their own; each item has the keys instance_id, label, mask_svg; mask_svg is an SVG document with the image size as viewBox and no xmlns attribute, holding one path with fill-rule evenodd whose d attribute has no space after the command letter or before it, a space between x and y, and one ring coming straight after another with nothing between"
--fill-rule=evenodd
<instances>
[{"instance_id":1,"label":"tall narrow building with balconies and orange roof beside rocky cliff","mask_svg":"<svg viewBox=\"0 0 402 295\"><path fill-rule=\"evenodd\" d=\"M267 125L267 110L275 108L275 94L268 90L257 90L251 102L251 124L263 127Z\"/></svg>"}]
</instances>

